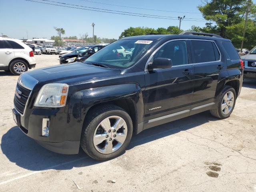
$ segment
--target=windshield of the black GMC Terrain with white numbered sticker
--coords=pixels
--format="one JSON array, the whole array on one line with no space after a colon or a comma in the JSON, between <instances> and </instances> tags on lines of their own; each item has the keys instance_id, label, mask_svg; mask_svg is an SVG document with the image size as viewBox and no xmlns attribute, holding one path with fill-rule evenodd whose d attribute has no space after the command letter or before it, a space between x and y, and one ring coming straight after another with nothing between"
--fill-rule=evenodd
<instances>
[{"instance_id":1,"label":"windshield of the black GMC Terrain with white numbered sticker","mask_svg":"<svg viewBox=\"0 0 256 192\"><path fill-rule=\"evenodd\" d=\"M84 63L125 69L135 64L155 43L156 40L118 40L90 56Z\"/></svg>"}]
</instances>

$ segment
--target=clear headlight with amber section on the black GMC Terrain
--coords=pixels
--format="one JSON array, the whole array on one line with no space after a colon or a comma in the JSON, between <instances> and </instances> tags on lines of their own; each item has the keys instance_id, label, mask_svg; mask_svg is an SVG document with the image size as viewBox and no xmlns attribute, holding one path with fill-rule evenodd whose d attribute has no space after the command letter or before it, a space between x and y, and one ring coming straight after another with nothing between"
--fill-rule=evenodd
<instances>
[{"instance_id":1,"label":"clear headlight with amber section on the black GMC Terrain","mask_svg":"<svg viewBox=\"0 0 256 192\"><path fill-rule=\"evenodd\" d=\"M44 85L36 97L36 107L62 107L66 104L68 85L64 83L50 83Z\"/></svg>"}]
</instances>

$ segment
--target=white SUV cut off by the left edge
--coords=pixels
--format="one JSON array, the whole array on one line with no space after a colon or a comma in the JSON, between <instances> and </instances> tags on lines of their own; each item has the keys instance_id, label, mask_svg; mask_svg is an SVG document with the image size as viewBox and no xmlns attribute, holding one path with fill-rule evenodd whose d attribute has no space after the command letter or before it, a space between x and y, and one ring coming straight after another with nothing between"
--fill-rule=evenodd
<instances>
[{"instance_id":1,"label":"white SUV cut off by the left edge","mask_svg":"<svg viewBox=\"0 0 256 192\"><path fill-rule=\"evenodd\" d=\"M0 70L20 75L36 66L33 50L20 40L0 37Z\"/></svg>"}]
</instances>

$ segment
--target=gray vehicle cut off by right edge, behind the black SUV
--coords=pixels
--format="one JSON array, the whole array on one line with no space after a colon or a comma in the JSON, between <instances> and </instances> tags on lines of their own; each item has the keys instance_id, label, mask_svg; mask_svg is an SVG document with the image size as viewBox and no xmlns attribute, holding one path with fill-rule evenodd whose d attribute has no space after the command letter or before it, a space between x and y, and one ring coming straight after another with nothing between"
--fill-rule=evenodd
<instances>
[{"instance_id":1,"label":"gray vehicle cut off by right edge, behind the black SUV","mask_svg":"<svg viewBox=\"0 0 256 192\"><path fill-rule=\"evenodd\" d=\"M256 80L256 46L241 59L244 62L244 78Z\"/></svg>"}]
</instances>

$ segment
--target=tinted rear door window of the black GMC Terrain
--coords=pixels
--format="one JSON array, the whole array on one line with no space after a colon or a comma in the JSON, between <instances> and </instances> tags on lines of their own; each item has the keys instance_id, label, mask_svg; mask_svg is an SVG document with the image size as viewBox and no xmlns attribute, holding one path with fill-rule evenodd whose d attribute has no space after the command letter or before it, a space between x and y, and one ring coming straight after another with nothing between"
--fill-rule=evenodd
<instances>
[{"instance_id":1,"label":"tinted rear door window of the black GMC Terrain","mask_svg":"<svg viewBox=\"0 0 256 192\"><path fill-rule=\"evenodd\" d=\"M192 56L194 63L205 63L219 60L218 53L214 52L214 46L211 41L191 41ZM214 44L215 45L215 44Z\"/></svg>"}]
</instances>

